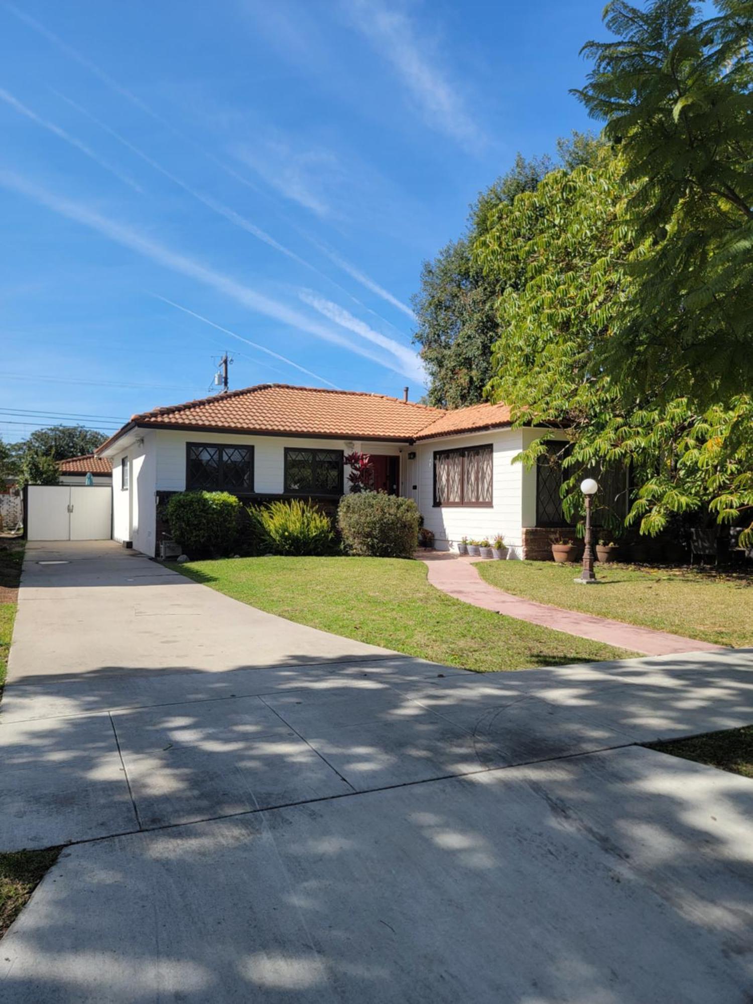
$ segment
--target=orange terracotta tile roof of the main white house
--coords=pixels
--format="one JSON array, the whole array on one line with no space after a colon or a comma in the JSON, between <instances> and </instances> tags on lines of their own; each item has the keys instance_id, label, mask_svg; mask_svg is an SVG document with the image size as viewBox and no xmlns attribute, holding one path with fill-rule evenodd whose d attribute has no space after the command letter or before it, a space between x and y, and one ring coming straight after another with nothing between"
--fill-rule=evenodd
<instances>
[{"instance_id":1,"label":"orange terracotta tile roof of the main white house","mask_svg":"<svg viewBox=\"0 0 753 1004\"><path fill-rule=\"evenodd\" d=\"M453 412L360 391L327 391L287 384L260 384L199 401L134 415L103 443L140 429L320 436L415 442L510 424L504 405L474 405Z\"/></svg>"}]
</instances>

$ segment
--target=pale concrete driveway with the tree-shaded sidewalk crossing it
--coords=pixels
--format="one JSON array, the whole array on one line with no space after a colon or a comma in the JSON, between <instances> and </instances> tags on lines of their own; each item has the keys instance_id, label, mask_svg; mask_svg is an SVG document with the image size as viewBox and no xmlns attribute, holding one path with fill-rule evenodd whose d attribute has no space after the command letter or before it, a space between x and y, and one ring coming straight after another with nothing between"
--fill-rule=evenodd
<instances>
[{"instance_id":1,"label":"pale concrete driveway with the tree-shaded sidewalk crossing it","mask_svg":"<svg viewBox=\"0 0 753 1004\"><path fill-rule=\"evenodd\" d=\"M636 744L753 722L753 652L482 677L109 545L17 624L0 848L70 846L3 1001L749 1004L753 784Z\"/></svg>"}]
</instances>

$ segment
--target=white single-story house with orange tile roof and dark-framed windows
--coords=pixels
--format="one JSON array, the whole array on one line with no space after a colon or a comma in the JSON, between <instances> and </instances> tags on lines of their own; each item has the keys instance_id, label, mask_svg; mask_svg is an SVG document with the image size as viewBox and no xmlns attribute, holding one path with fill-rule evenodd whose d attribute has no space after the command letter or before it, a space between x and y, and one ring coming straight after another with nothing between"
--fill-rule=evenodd
<instances>
[{"instance_id":1,"label":"white single-story house with orange tile roof and dark-framed windows","mask_svg":"<svg viewBox=\"0 0 753 1004\"><path fill-rule=\"evenodd\" d=\"M379 490L415 499L438 548L499 533L509 557L545 557L551 527L566 525L559 468L513 463L540 434L512 428L504 405L446 411L407 392L401 400L263 384L135 415L96 456L112 465L113 538L149 555L172 493L222 489L249 502L297 496L333 507L348 490L343 458L360 452Z\"/></svg>"}]
</instances>

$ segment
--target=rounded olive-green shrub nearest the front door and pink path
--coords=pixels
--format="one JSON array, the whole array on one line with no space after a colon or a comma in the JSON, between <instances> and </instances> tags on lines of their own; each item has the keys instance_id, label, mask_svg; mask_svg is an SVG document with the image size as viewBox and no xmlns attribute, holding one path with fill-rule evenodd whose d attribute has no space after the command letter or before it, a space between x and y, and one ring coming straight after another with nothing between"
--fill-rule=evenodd
<instances>
[{"instance_id":1,"label":"rounded olive-green shrub nearest the front door and pink path","mask_svg":"<svg viewBox=\"0 0 753 1004\"><path fill-rule=\"evenodd\" d=\"M345 495L337 509L337 526L350 553L375 558L413 557L419 518L413 499L384 492Z\"/></svg>"}]
</instances>

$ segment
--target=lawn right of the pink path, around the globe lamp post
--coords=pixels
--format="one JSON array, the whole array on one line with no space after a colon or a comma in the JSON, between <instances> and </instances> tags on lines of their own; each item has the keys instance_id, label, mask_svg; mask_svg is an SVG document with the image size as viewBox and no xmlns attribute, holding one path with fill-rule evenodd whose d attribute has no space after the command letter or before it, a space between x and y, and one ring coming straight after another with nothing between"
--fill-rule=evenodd
<instances>
[{"instance_id":1,"label":"lawn right of the pink path, around the globe lamp post","mask_svg":"<svg viewBox=\"0 0 753 1004\"><path fill-rule=\"evenodd\" d=\"M570 610L735 648L753 646L753 573L596 564L599 585L576 585L579 568L553 561L484 561L491 585Z\"/></svg>"}]
</instances>

